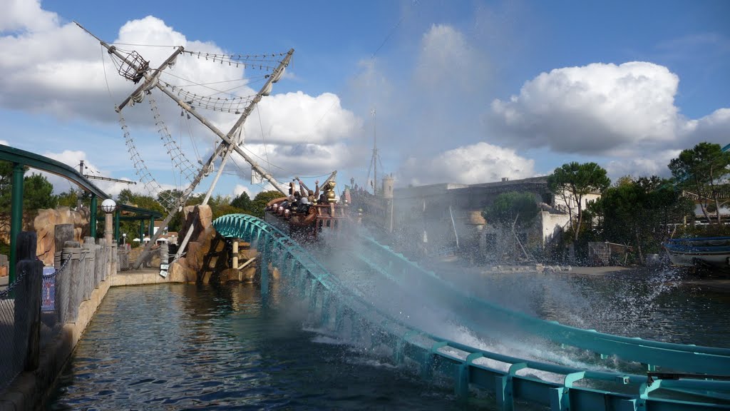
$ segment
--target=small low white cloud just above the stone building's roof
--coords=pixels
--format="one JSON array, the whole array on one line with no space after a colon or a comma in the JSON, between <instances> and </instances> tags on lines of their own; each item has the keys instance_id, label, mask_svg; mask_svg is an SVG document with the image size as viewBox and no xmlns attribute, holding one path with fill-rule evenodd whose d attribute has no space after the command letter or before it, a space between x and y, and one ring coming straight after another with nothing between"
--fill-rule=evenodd
<instances>
[{"instance_id":1,"label":"small low white cloud just above the stone building's roof","mask_svg":"<svg viewBox=\"0 0 730 411\"><path fill-rule=\"evenodd\" d=\"M397 179L413 185L477 184L502 177L516 179L534 175L534 160L520 157L510 148L480 142L445 151L431 159L411 157L399 170Z\"/></svg>"}]
</instances>

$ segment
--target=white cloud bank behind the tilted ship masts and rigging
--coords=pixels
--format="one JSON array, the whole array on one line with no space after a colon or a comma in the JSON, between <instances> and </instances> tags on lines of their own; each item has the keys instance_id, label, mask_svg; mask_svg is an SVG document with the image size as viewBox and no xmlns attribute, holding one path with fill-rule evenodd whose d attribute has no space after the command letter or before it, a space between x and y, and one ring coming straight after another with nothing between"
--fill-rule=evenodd
<instances>
[{"instance_id":1,"label":"white cloud bank behind the tilted ship masts and rigging","mask_svg":"<svg viewBox=\"0 0 730 411\"><path fill-rule=\"evenodd\" d=\"M38 1L12 1L4 10L0 17L0 88L3 90L0 108L55 116L66 122L82 121L103 127L115 125L118 116L113 110L114 105L126 98L137 85L117 74L108 54L100 53L101 46L93 37L74 23L61 24L58 20L55 13L42 10ZM212 42L188 39L153 16L128 21L119 29L116 39L108 40L120 43L118 48L123 53L131 51L124 48L131 47L121 43L181 45L187 51L226 54L226 50ZM142 58L150 61L150 67L157 67L170 55L172 48L139 48L138 51ZM287 73L288 77L293 76L291 71ZM253 73L258 74L261 73ZM197 96L217 99L255 94L263 85L263 76L252 79L247 78L249 75L252 74L247 73L243 65L213 63L184 54L178 56L174 67L165 70L161 80L183 87ZM232 83L234 81L237 83ZM202 83L207 83L207 86L202 86ZM274 86L274 92L276 89L277 86ZM183 97L183 94L180 96ZM191 144L200 147L199 151L196 148L195 156L207 159L212 141L218 141L218 137L207 129L195 124L189 126L189 121L180 120L180 107L161 92L153 89L153 94L146 99L150 97L154 97L161 113L160 119L166 122L169 133L174 137L190 135ZM231 129L239 116L213 111L204 113L223 133ZM143 159L159 178L158 171L165 167L169 170L170 163L163 142L155 137L159 128L155 123L158 121L150 115L147 102L141 103L140 107L128 106L123 114ZM300 91L272 94L262 99L258 113L253 113L245 124L245 137L252 150L258 151L262 158L265 153L260 147L266 144L269 148L266 154L273 164L281 159L284 165L280 167L291 166L291 170L302 173L304 171L299 171L298 165L307 166L307 170L342 167L347 160L343 147L352 135L356 135L358 128L361 128L361 121L351 111L342 108L337 95L323 93L310 96ZM109 157L104 162L118 162L118 159L111 159L115 155L119 161L128 162L121 135L121 132L113 136L104 135L114 139L113 142L101 141L108 149L106 154ZM79 146L85 144L80 138L74 143ZM95 137L94 143L99 144L99 137ZM150 146L155 143L156 146ZM301 158L297 157L301 154L305 154L303 159L297 159ZM188 157L192 156L188 152ZM77 164L80 159L85 157L71 161ZM310 163L312 167L309 167ZM281 173L281 169L276 170Z\"/></svg>"}]
</instances>

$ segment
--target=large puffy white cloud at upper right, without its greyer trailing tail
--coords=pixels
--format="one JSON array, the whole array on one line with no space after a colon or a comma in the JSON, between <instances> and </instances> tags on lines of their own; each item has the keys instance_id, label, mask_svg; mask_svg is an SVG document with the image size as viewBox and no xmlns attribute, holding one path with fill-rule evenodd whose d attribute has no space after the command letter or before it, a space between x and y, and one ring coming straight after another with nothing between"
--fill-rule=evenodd
<instances>
[{"instance_id":1,"label":"large puffy white cloud at upper right, without its greyer trailing tail","mask_svg":"<svg viewBox=\"0 0 730 411\"><path fill-rule=\"evenodd\" d=\"M675 140L678 84L666 67L641 61L553 69L526 82L519 95L495 99L485 121L512 146L607 154Z\"/></svg>"}]
</instances>

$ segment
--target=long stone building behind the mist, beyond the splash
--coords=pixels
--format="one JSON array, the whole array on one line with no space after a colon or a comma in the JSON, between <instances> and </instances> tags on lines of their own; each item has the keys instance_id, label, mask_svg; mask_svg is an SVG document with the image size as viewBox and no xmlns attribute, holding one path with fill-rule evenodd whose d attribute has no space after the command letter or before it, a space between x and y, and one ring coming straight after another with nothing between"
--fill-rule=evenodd
<instances>
[{"instance_id":1,"label":"long stone building behind the mist, beyond the splash","mask_svg":"<svg viewBox=\"0 0 730 411\"><path fill-rule=\"evenodd\" d=\"M392 186L392 180L386 184ZM385 190L384 190L385 191ZM577 205L569 196L553 195L548 178L534 177L483 184L430 184L393 190L392 198L362 199L364 221L393 234L393 241L404 252L450 254L458 251L485 254L499 235L481 211L505 192L529 192L540 207L534 227L518 233L521 241L545 248L556 241L569 225ZM584 197L581 206L600 197ZM364 201L363 201L364 200Z\"/></svg>"}]
</instances>

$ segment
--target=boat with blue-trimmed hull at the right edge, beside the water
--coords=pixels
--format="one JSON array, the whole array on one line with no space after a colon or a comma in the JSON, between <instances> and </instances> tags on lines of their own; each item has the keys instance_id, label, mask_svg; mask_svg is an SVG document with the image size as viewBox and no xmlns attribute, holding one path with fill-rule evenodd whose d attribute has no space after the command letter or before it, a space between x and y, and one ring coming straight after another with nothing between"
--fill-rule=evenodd
<instances>
[{"instance_id":1,"label":"boat with blue-trimmed hull at the right edge, beside the water","mask_svg":"<svg viewBox=\"0 0 730 411\"><path fill-rule=\"evenodd\" d=\"M730 268L730 237L673 238L664 249L674 265Z\"/></svg>"}]
</instances>

